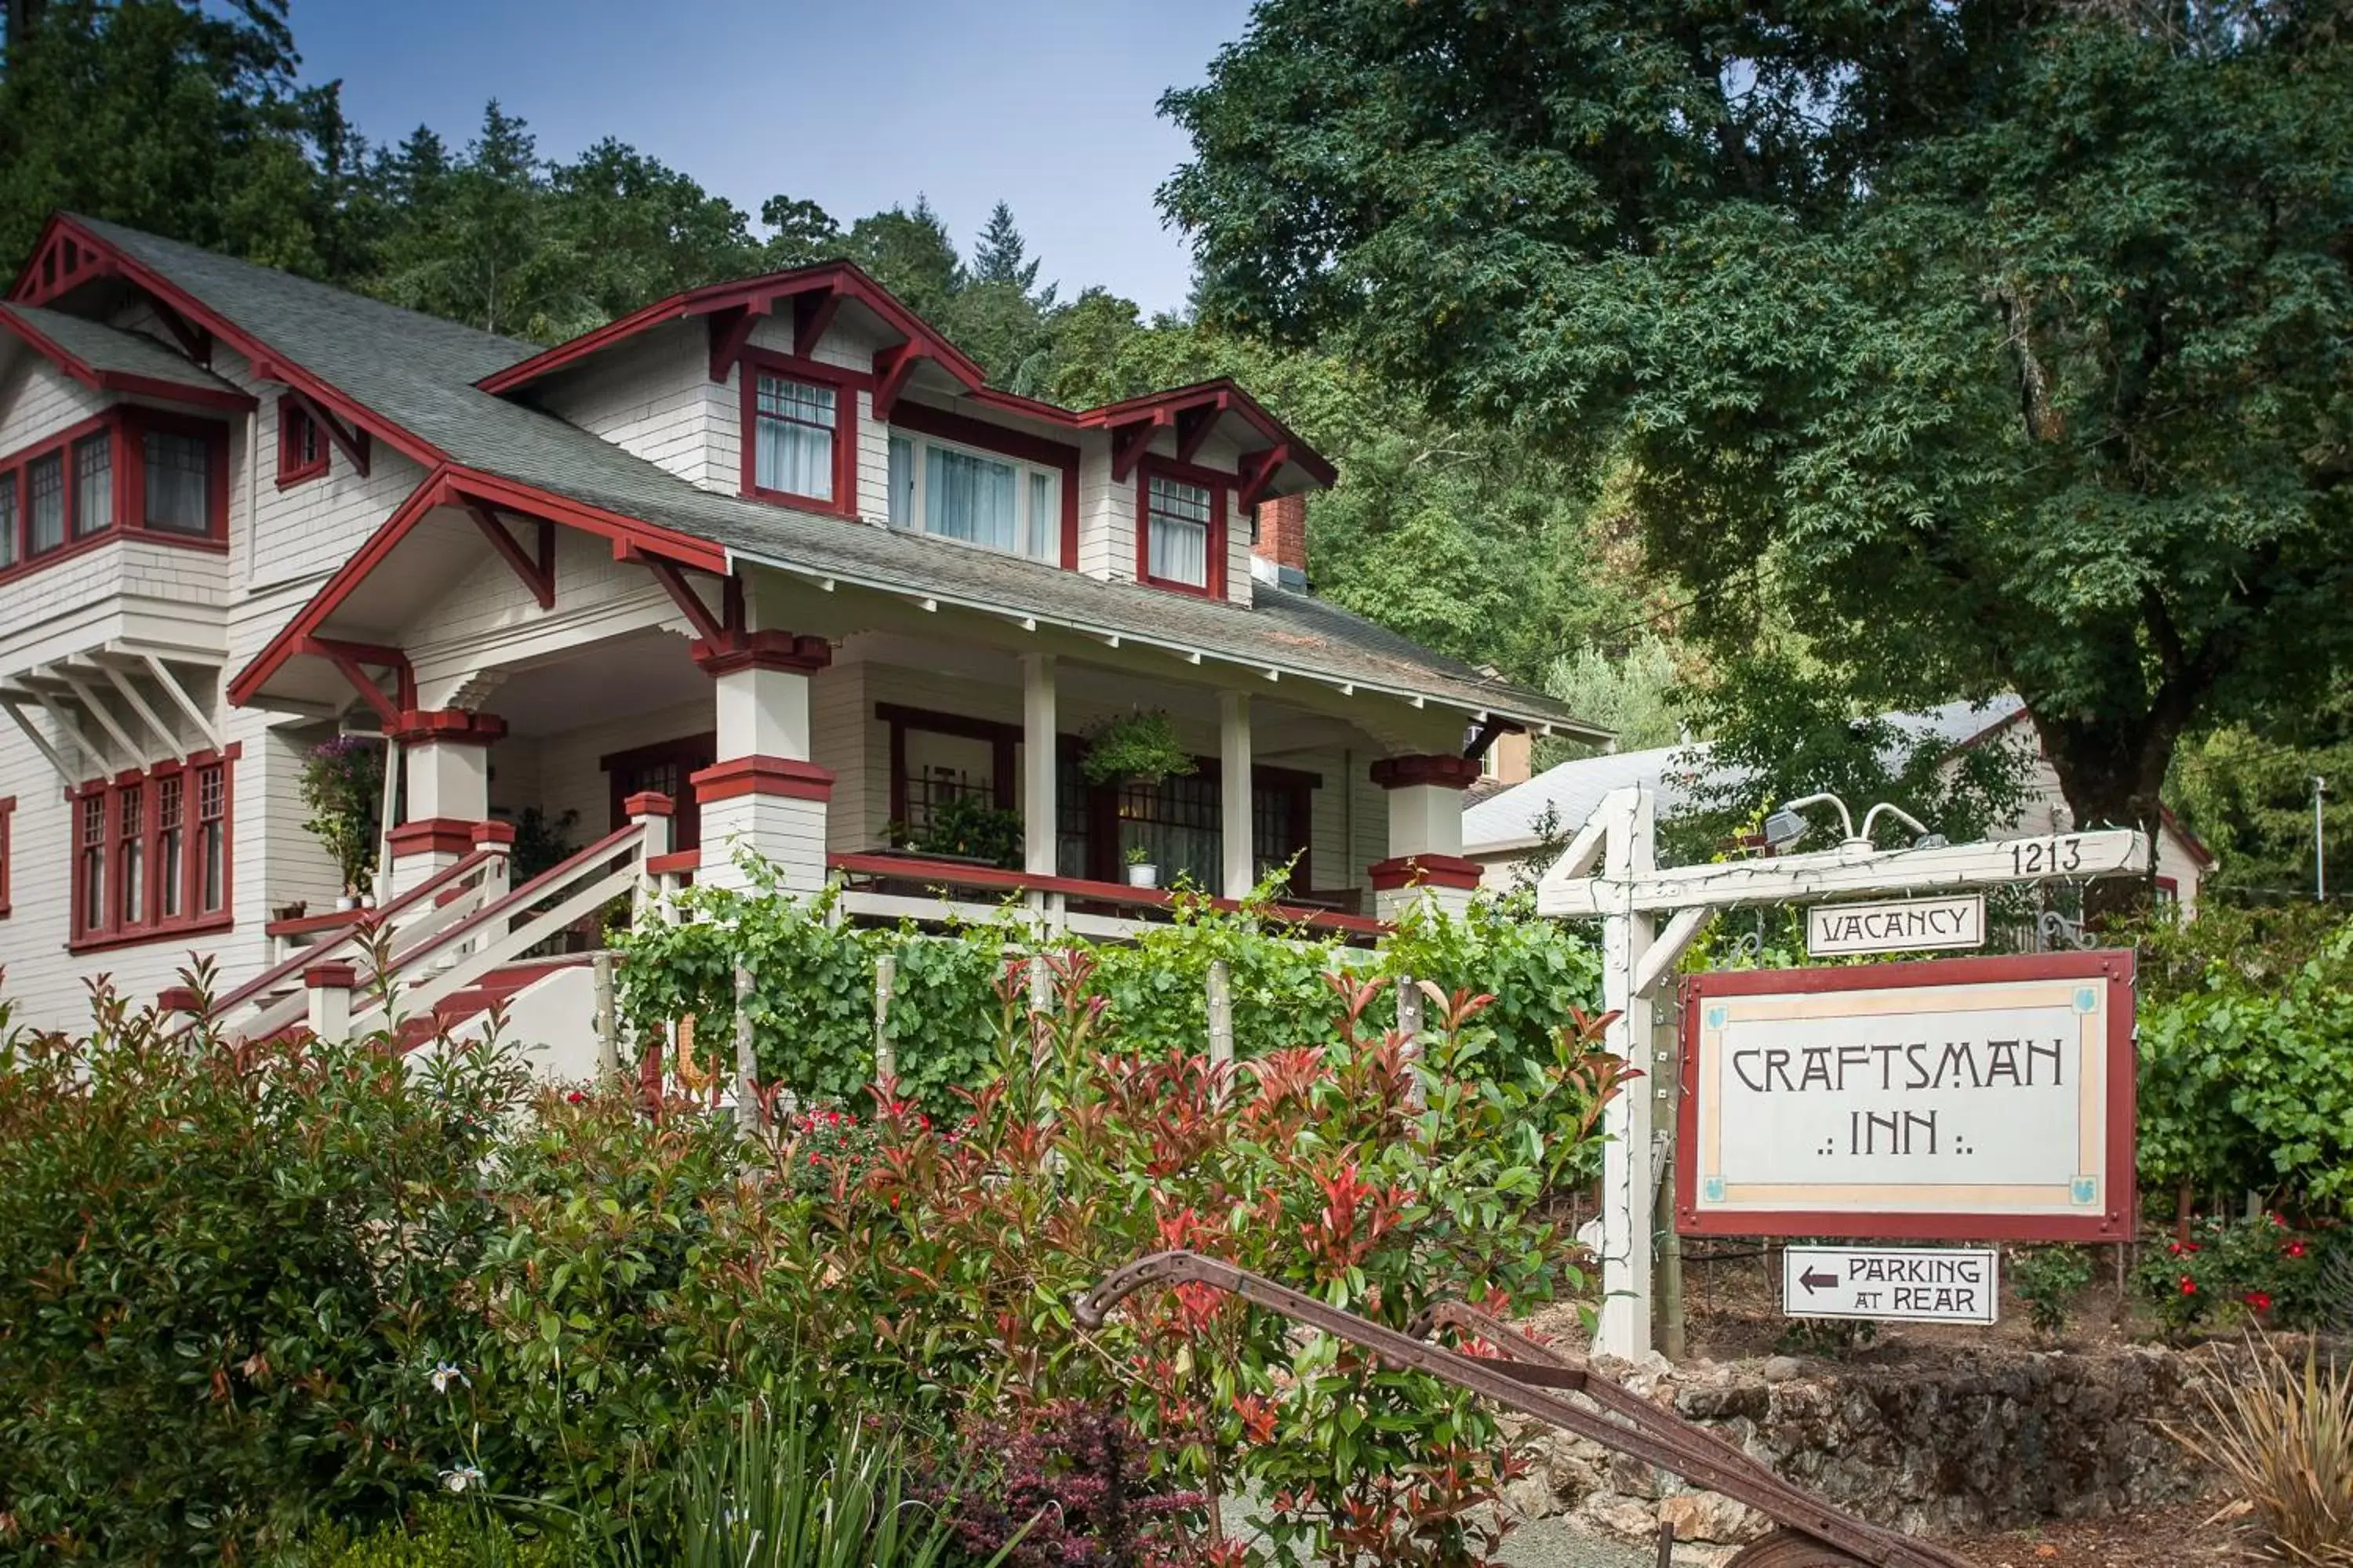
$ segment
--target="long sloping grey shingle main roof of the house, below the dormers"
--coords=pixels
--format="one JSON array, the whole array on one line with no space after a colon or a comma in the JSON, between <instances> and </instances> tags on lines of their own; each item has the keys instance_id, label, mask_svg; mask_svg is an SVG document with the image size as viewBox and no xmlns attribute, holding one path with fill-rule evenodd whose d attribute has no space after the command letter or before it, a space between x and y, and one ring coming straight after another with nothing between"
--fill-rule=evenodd
<instances>
[{"instance_id":1,"label":"long sloping grey shingle main roof of the house, below the dormers","mask_svg":"<svg viewBox=\"0 0 2353 1568\"><path fill-rule=\"evenodd\" d=\"M75 221L466 468L678 529L769 567L1141 642L1186 644L1520 722L1588 729L1546 696L1482 677L1457 658L1306 595L1259 585L1254 607L1195 599L696 489L562 418L473 386L539 353L536 343L400 310L118 223Z\"/></svg>"}]
</instances>

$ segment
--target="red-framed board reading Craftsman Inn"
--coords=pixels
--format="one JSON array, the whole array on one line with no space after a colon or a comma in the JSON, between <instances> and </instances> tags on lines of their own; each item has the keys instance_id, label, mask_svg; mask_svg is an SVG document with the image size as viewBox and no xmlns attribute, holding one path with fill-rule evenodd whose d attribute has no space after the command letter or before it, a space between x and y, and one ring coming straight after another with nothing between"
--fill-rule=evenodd
<instances>
[{"instance_id":1,"label":"red-framed board reading Craftsman Inn","mask_svg":"<svg viewBox=\"0 0 2353 1568\"><path fill-rule=\"evenodd\" d=\"M1694 976L1678 1229L2115 1239L2132 1079L2129 952Z\"/></svg>"}]
</instances>

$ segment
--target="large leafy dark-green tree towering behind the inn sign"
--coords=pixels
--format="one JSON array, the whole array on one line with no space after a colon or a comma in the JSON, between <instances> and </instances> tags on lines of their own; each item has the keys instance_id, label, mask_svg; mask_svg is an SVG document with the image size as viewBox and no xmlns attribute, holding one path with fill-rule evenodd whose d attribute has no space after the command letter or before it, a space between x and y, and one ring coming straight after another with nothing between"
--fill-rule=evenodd
<instances>
[{"instance_id":1,"label":"large leafy dark-green tree towering behind the inn sign","mask_svg":"<svg viewBox=\"0 0 2353 1568\"><path fill-rule=\"evenodd\" d=\"M2292 7L1268 0L1162 207L1205 320L1626 463L1680 630L2019 691L2153 823L2353 637L2348 80Z\"/></svg>"}]
</instances>

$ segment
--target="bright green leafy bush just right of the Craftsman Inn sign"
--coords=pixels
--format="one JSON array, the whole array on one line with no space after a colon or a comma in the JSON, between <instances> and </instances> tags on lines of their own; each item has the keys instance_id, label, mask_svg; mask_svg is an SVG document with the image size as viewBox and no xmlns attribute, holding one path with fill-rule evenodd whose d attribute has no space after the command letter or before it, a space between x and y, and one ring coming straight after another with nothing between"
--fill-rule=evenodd
<instances>
[{"instance_id":1,"label":"bright green leafy bush just right of the Craftsman Inn sign","mask_svg":"<svg viewBox=\"0 0 2353 1568\"><path fill-rule=\"evenodd\" d=\"M2280 1192L2341 1213L2353 1201L2353 924L2285 976L2240 961L2221 952L2195 987L2141 1006L2141 1180Z\"/></svg>"}]
</instances>

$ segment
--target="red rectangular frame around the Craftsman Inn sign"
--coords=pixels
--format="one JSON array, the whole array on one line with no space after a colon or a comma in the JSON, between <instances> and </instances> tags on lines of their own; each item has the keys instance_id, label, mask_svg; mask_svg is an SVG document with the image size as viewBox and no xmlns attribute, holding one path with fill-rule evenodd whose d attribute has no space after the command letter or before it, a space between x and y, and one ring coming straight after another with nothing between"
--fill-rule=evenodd
<instances>
[{"instance_id":1,"label":"red rectangular frame around the Craftsman Inn sign","mask_svg":"<svg viewBox=\"0 0 2353 1568\"><path fill-rule=\"evenodd\" d=\"M1675 1229L1685 1237L1854 1237L1913 1241L2127 1241L2139 1218L2134 1187L2134 1088L2129 947L2040 952L1991 959L1911 964L1838 964L1826 969L1746 969L1682 983L1682 1095L1675 1110L1680 1147L1699 1147L1699 1009L1711 997L1885 990L1892 985L1969 985L2017 980L2099 980L2108 987L2108 1164L2106 1204L2087 1215L1974 1213L1699 1213L1699 1161L1675 1161Z\"/></svg>"}]
</instances>

